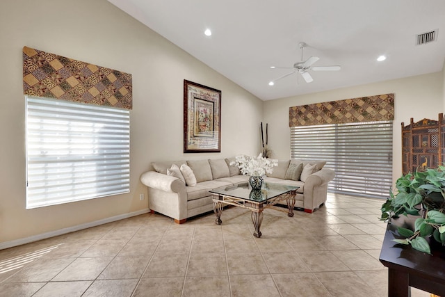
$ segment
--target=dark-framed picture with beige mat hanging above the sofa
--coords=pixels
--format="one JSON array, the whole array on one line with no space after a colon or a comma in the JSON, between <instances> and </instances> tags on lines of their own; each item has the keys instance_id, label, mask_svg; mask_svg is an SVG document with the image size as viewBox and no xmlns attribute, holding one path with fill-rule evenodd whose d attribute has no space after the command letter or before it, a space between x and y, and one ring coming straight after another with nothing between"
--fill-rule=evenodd
<instances>
[{"instance_id":1,"label":"dark-framed picture with beige mat hanging above the sofa","mask_svg":"<svg viewBox=\"0 0 445 297\"><path fill-rule=\"evenodd\" d=\"M184 152L221 152L221 91L186 79Z\"/></svg>"}]
</instances>

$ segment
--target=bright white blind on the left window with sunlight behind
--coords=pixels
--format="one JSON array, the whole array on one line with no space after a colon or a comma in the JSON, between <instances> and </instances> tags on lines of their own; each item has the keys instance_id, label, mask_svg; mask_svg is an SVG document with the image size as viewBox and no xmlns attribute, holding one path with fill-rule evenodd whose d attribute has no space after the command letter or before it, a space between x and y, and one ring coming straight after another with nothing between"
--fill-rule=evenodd
<instances>
[{"instance_id":1,"label":"bright white blind on the left window with sunlight behind","mask_svg":"<svg viewBox=\"0 0 445 297\"><path fill-rule=\"evenodd\" d=\"M26 208L129 193L129 111L26 96Z\"/></svg>"}]
</instances>

